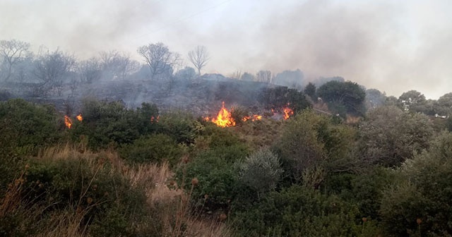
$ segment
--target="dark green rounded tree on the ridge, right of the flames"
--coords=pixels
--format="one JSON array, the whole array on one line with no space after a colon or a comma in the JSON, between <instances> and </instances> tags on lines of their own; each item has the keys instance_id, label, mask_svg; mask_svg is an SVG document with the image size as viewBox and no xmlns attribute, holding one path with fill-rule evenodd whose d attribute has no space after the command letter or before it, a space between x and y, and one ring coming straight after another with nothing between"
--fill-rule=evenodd
<instances>
[{"instance_id":1,"label":"dark green rounded tree on the ridge, right of the flames","mask_svg":"<svg viewBox=\"0 0 452 237\"><path fill-rule=\"evenodd\" d=\"M319 87L317 95L328 103L328 109L341 116L364 114L366 92L357 83L332 80Z\"/></svg>"}]
</instances>

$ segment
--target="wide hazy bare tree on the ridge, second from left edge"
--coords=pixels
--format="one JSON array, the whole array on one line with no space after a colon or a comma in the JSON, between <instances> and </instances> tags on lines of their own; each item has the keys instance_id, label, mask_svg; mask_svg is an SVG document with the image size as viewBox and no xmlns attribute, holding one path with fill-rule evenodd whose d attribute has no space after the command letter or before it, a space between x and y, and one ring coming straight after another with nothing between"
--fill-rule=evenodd
<instances>
[{"instance_id":1,"label":"wide hazy bare tree on the ridge, second from left edge","mask_svg":"<svg viewBox=\"0 0 452 237\"><path fill-rule=\"evenodd\" d=\"M40 80L38 95L46 96L52 90L57 90L58 95L61 95L64 80L68 79L75 66L74 56L58 49L40 54L35 60L33 69L33 74Z\"/></svg>"}]
</instances>

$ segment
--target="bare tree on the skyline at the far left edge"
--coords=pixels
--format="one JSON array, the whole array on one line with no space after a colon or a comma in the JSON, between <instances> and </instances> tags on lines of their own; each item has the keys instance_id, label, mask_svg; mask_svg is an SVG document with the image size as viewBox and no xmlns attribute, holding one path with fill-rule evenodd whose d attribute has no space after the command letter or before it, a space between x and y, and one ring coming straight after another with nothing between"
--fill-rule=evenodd
<instances>
[{"instance_id":1,"label":"bare tree on the skyline at the far left edge","mask_svg":"<svg viewBox=\"0 0 452 237\"><path fill-rule=\"evenodd\" d=\"M23 59L30 48L30 44L27 42L21 42L16 39L12 40L0 40L0 56L6 63L6 77L5 81L8 81L13 74L13 66Z\"/></svg>"}]
</instances>

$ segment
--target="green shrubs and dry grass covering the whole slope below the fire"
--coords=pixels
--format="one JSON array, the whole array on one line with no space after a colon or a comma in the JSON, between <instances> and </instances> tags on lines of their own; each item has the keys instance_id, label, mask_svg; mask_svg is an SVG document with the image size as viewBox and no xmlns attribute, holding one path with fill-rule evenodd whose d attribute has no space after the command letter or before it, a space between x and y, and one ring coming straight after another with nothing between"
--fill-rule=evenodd
<instances>
[{"instance_id":1,"label":"green shrubs and dry grass covering the whole slope below the fire","mask_svg":"<svg viewBox=\"0 0 452 237\"><path fill-rule=\"evenodd\" d=\"M50 105L0 102L0 235L452 235L450 119L374 90L353 123L266 93L295 115L220 128L85 99L68 128Z\"/></svg>"}]
</instances>

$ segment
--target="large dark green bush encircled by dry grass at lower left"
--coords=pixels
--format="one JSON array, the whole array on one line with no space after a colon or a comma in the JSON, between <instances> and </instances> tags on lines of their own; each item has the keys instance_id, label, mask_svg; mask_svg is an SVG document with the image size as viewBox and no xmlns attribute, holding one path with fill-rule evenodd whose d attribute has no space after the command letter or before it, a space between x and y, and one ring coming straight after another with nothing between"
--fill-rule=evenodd
<instances>
[{"instance_id":1,"label":"large dark green bush encircled by dry grass at lower left","mask_svg":"<svg viewBox=\"0 0 452 237\"><path fill-rule=\"evenodd\" d=\"M64 159L49 154L30 161L20 205L36 210L39 221L29 224L26 232L40 233L52 218L68 212L81 217L77 226L88 226L93 236L133 235L149 213L144 190L131 186L107 157L71 153ZM21 218L19 222L27 223L27 217Z\"/></svg>"}]
</instances>

